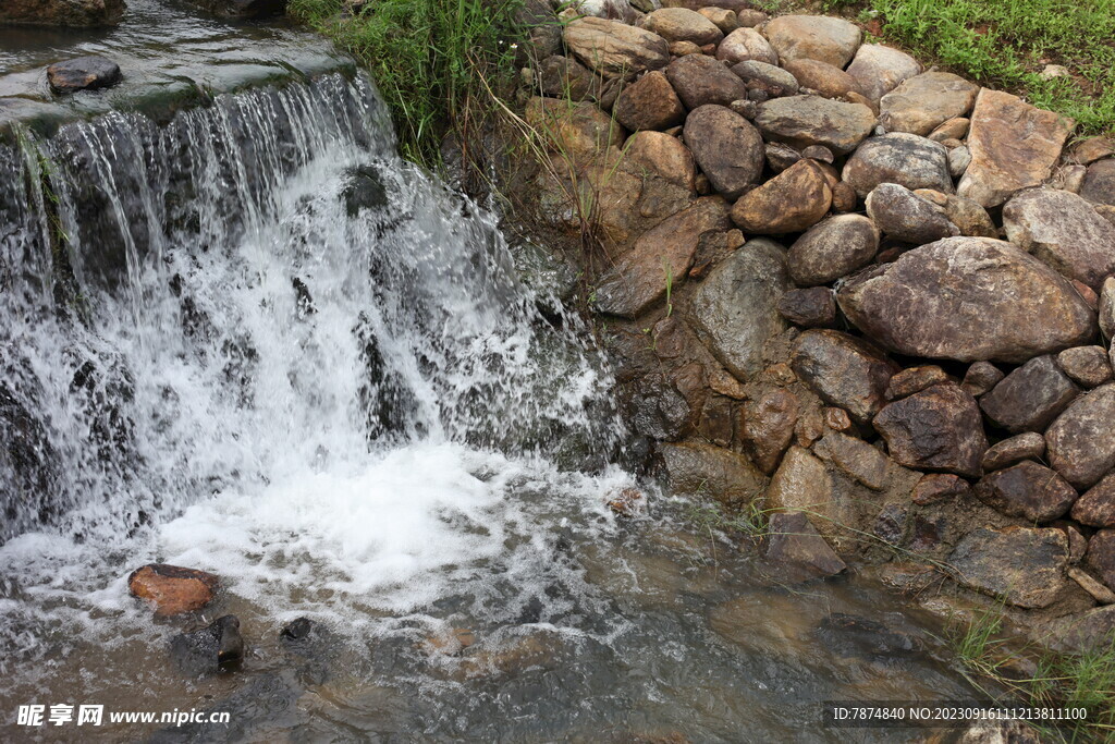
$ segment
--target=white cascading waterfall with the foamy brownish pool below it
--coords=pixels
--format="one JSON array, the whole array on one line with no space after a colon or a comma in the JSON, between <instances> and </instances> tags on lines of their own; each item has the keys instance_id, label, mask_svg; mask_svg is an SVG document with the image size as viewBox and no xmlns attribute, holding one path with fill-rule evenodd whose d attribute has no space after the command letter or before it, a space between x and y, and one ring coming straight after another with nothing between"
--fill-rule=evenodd
<instances>
[{"instance_id":1,"label":"white cascading waterfall with the foamy brownish pool below it","mask_svg":"<svg viewBox=\"0 0 1115 744\"><path fill-rule=\"evenodd\" d=\"M617 524L586 335L395 155L366 79L0 147L0 251L4 715L216 699L233 727L184 737L738 741L857 690L960 694L928 656L850 666L823 619L874 595L795 599L666 512ZM180 628L127 596L153 560L221 576L242 671L168 667ZM292 676L300 616L334 641ZM449 628L479 642L437 653Z\"/></svg>"}]
</instances>

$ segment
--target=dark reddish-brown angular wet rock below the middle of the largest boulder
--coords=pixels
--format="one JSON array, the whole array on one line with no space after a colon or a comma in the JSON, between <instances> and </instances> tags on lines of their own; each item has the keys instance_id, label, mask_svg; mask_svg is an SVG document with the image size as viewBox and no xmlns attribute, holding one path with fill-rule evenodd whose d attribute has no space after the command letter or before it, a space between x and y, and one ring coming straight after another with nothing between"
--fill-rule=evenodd
<instances>
[{"instance_id":1,"label":"dark reddish-brown angular wet rock below the middle of the largest boulder","mask_svg":"<svg viewBox=\"0 0 1115 744\"><path fill-rule=\"evenodd\" d=\"M976 399L959 385L933 385L888 404L874 418L900 465L976 477L987 437Z\"/></svg>"}]
</instances>

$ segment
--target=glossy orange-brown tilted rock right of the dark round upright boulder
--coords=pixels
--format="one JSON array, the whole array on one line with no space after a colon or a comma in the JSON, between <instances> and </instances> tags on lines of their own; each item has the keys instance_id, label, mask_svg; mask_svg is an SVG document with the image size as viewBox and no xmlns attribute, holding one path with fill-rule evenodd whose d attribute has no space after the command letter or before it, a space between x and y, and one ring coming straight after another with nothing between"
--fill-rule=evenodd
<instances>
[{"instance_id":1,"label":"glossy orange-brown tilted rock right of the dark round upright boulder","mask_svg":"<svg viewBox=\"0 0 1115 744\"><path fill-rule=\"evenodd\" d=\"M740 196L731 220L760 235L801 232L816 224L831 204L824 174L812 161L801 161Z\"/></svg>"}]
</instances>

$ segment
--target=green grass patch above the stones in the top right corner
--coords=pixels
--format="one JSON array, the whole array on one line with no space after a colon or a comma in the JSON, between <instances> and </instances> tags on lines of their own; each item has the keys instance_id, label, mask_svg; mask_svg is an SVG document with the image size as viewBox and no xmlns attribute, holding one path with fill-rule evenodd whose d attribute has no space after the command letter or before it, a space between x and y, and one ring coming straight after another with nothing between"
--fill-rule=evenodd
<instances>
[{"instance_id":1,"label":"green grass patch above the stones in the top right corner","mask_svg":"<svg viewBox=\"0 0 1115 744\"><path fill-rule=\"evenodd\" d=\"M1115 0L827 0L823 7L878 20L883 42L1072 116L1080 134L1115 131ZM1047 64L1073 77L1043 79Z\"/></svg>"}]
</instances>

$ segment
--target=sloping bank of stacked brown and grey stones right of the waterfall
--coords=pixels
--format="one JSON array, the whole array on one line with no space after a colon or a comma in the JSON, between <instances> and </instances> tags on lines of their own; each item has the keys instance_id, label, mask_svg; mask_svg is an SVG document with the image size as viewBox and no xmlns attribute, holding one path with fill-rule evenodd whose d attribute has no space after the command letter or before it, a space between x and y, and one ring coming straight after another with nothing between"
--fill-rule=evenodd
<instances>
[{"instance_id":1,"label":"sloping bank of stacked brown and grey stones right of the waterfall","mask_svg":"<svg viewBox=\"0 0 1115 744\"><path fill-rule=\"evenodd\" d=\"M563 10L522 59L541 212L607 258L675 490L804 514L766 551L814 574L1115 600L1113 143L845 20L666 4Z\"/></svg>"}]
</instances>

